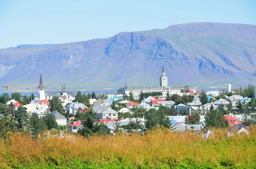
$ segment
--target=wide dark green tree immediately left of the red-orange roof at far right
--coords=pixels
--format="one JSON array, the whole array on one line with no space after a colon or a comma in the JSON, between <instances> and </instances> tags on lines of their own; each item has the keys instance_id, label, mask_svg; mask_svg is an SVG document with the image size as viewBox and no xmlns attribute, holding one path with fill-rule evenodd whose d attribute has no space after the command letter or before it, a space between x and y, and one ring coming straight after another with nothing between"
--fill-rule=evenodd
<instances>
[{"instance_id":1,"label":"wide dark green tree immediately left of the red-orange roof at far right","mask_svg":"<svg viewBox=\"0 0 256 169\"><path fill-rule=\"evenodd\" d=\"M211 127L224 128L228 126L228 121L225 119L223 112L220 109L214 110L213 106L210 107L209 112L204 116L205 128Z\"/></svg>"}]
</instances>

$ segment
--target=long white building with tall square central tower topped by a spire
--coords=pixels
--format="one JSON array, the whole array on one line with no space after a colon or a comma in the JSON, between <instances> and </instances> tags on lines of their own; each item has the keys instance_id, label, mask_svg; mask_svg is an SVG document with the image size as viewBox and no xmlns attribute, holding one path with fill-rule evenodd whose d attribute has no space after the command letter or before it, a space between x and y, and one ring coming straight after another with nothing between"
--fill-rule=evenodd
<instances>
[{"instance_id":1,"label":"long white building with tall square central tower topped by a spire","mask_svg":"<svg viewBox=\"0 0 256 169\"><path fill-rule=\"evenodd\" d=\"M181 90L186 90L188 89L189 86L168 86L168 80L167 76L164 70L164 66L162 69L162 75L160 76L160 86L154 87L154 86L136 86L136 87L131 87L127 86L125 82L125 87L122 87L117 90L117 94L127 94L129 95L130 92L132 92L133 95L140 95L140 92L144 93L149 93L149 92L169 92L170 95L173 94L180 94Z\"/></svg>"}]
</instances>

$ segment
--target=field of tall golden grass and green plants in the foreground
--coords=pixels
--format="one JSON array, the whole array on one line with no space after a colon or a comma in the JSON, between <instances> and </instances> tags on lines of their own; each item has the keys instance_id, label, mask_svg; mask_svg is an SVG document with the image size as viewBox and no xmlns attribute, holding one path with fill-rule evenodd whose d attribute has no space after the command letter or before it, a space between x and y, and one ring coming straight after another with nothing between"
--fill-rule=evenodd
<instances>
[{"instance_id":1,"label":"field of tall golden grass and green plants in the foreground","mask_svg":"<svg viewBox=\"0 0 256 169\"><path fill-rule=\"evenodd\" d=\"M0 168L256 168L256 129L227 137L212 130L209 139L193 132L157 129L145 135L116 135L38 141L14 134L0 142Z\"/></svg>"}]
</instances>

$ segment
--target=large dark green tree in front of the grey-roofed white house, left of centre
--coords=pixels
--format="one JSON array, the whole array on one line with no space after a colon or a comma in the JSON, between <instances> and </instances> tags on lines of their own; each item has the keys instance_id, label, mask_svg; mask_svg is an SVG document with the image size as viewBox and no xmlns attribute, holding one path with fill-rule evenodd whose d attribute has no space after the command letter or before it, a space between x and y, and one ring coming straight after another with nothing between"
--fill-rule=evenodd
<instances>
[{"instance_id":1,"label":"large dark green tree in front of the grey-roofed white house, left of centre","mask_svg":"<svg viewBox=\"0 0 256 169\"><path fill-rule=\"evenodd\" d=\"M95 117L93 109L89 109L85 113L85 119L81 122L81 128L78 130L79 135L88 137L93 134L107 135L110 134L110 129L105 124L99 123Z\"/></svg>"}]
</instances>

